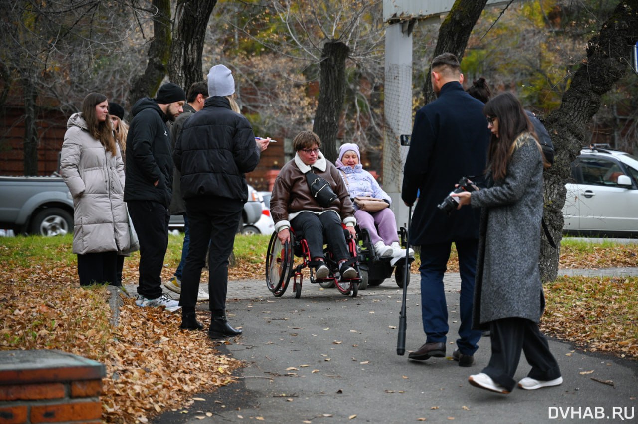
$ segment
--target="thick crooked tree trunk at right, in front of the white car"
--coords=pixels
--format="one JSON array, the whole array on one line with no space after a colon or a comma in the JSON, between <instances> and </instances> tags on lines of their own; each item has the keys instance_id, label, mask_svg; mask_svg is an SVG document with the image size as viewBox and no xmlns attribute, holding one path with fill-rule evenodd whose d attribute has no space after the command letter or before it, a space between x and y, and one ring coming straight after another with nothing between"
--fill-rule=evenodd
<instances>
[{"instance_id":1,"label":"thick crooked tree trunk at right, in front of the white car","mask_svg":"<svg viewBox=\"0 0 638 424\"><path fill-rule=\"evenodd\" d=\"M544 219L556 242L563 229L565 183L571 176L570 164L583 147L584 129L600 107L600 97L629 69L631 47L638 40L638 0L620 1L600 31L587 43L587 57L574 73L563 95L560 108L545 120L556 153L554 165L544 173ZM540 251L540 274L552 281L558 274L559 249L545 239Z\"/></svg>"}]
</instances>

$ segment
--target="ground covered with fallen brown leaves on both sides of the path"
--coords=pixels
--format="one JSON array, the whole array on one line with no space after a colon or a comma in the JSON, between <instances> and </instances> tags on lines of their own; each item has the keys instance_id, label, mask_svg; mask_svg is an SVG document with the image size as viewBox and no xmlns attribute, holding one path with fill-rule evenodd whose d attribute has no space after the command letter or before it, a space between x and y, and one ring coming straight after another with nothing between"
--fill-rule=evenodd
<instances>
[{"instance_id":1,"label":"ground covered with fallen brown leaves on both sides of the path","mask_svg":"<svg viewBox=\"0 0 638 424\"><path fill-rule=\"evenodd\" d=\"M181 239L171 238L165 281L179 262ZM112 327L107 288L77 285L70 238L43 240L17 237L0 244L0 349L59 349L103 362L101 399L108 422L145 422L232 381L232 371L242 364L214 350L205 332L175 331L179 313L123 299L119 325ZM263 278L266 246L265 236L238 236L230 279ZM637 253L638 244L564 243L560 267L638 267ZM137 264L137 253L126 259L126 280L137 280ZM457 269L454 253L448 268ZM545 290L545 332L585 350L638 358L638 278L560 277ZM204 314L199 318L208 324Z\"/></svg>"}]
</instances>

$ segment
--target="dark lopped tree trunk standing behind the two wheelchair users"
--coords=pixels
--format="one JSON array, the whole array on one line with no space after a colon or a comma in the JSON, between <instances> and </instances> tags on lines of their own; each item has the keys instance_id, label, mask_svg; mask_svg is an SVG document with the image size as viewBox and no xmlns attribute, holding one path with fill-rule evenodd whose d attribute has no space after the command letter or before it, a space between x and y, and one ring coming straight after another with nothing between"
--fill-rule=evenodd
<instances>
[{"instance_id":1,"label":"dark lopped tree trunk standing behind the two wheelchair users","mask_svg":"<svg viewBox=\"0 0 638 424\"><path fill-rule=\"evenodd\" d=\"M350 47L339 41L323 46L321 85L313 131L321 140L323 155L332 163L337 159L337 133L346 92L346 59L349 54Z\"/></svg>"}]
</instances>

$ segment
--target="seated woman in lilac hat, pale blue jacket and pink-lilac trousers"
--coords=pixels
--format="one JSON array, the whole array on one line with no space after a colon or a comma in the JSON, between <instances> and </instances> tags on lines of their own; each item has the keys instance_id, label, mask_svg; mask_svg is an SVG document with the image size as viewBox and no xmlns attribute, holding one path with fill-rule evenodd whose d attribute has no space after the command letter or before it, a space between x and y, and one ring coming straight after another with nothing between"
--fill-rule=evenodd
<instances>
[{"instance_id":1,"label":"seated woman in lilac hat, pale blue jacket and pink-lilac trousers","mask_svg":"<svg viewBox=\"0 0 638 424\"><path fill-rule=\"evenodd\" d=\"M357 196L376 197L377 199L383 199L389 206L391 202L390 196L383 191L375 177L363 169L360 162L359 146L354 143L345 143L341 146L336 166L341 171L341 178L346 183L350 197L352 199ZM378 257L397 258L405 256L406 251L399 244L396 219L392 209L386 207L375 212L368 212L359 209L356 203L354 208L355 218L359 222L359 227L367 230ZM409 253L414 255L412 249L410 249Z\"/></svg>"}]
</instances>

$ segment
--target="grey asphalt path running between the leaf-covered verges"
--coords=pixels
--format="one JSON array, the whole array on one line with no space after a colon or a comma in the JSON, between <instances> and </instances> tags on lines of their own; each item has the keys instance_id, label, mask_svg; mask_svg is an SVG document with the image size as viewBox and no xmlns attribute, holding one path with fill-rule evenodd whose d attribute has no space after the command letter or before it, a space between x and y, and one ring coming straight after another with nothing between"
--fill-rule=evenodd
<instances>
[{"instance_id":1,"label":"grey asphalt path running between the leaf-covered verges","mask_svg":"<svg viewBox=\"0 0 638 424\"><path fill-rule=\"evenodd\" d=\"M636 275L637 270L560 271L579 273ZM228 319L244 334L216 348L246 367L235 372L237 383L198 393L193 397L204 400L153 422L638 422L638 362L553 339L549 346L563 385L516 388L509 395L470 386L468 376L487 365L490 347L489 339L481 339L473 367L459 367L451 358L459 325L458 274L445 276L447 357L408 360L408 351L425 342L418 276L412 281L404 356L396 353L403 290L394 279L361 290L356 298L306 283L300 299L291 288L274 297L263 281L230 281ZM205 309L207 302L200 302L198 310ZM529 370L521 358L516 379Z\"/></svg>"}]
</instances>

